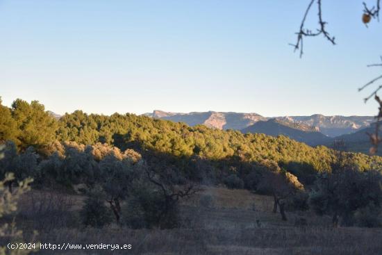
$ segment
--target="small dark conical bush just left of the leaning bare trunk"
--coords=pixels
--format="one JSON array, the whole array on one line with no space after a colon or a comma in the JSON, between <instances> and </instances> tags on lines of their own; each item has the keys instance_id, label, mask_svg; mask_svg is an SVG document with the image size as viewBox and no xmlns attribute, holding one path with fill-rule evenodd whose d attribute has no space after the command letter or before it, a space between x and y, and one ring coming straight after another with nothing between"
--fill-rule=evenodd
<instances>
[{"instance_id":1,"label":"small dark conical bush just left of the leaning bare trunk","mask_svg":"<svg viewBox=\"0 0 382 255\"><path fill-rule=\"evenodd\" d=\"M105 205L105 197L101 190L92 190L88 194L80 213L85 226L103 227L112 222L110 209Z\"/></svg>"}]
</instances>

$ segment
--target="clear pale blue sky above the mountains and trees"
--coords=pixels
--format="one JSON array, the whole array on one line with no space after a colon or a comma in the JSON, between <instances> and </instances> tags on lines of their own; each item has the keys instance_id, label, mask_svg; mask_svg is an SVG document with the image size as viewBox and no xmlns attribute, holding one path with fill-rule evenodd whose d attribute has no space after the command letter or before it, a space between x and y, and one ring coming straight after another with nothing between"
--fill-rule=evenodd
<instances>
[{"instance_id":1,"label":"clear pale blue sky above the mountains and trees","mask_svg":"<svg viewBox=\"0 0 382 255\"><path fill-rule=\"evenodd\" d=\"M299 58L288 44L308 2L0 0L0 96L59 114L375 115L358 88L381 74L366 65L382 22L365 27L362 1L322 1L337 45L307 38Z\"/></svg>"}]
</instances>

